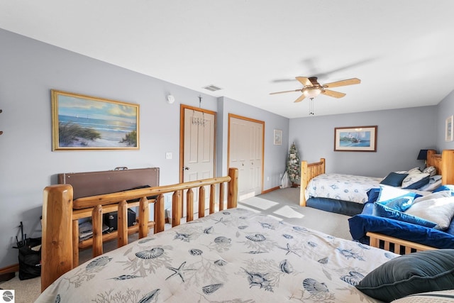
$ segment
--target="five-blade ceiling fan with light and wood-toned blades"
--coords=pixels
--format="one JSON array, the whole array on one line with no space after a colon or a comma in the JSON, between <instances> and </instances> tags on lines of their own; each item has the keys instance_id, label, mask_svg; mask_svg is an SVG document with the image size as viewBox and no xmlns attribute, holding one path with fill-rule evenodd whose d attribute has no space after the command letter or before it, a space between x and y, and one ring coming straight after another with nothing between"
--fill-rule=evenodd
<instances>
[{"instance_id":1,"label":"five-blade ceiling fan with light and wood-toned blades","mask_svg":"<svg viewBox=\"0 0 454 303\"><path fill-rule=\"evenodd\" d=\"M327 88L331 87L344 87L346 85L360 84L361 80L358 78L345 79L341 81L326 83L321 85L317 82L317 77L296 77L296 79L304 85L302 89L294 89L291 91L285 92L272 92L270 94L282 94L286 92L301 92L301 96L295 100L295 102L303 101L304 98L308 97L314 99L319 96L319 94L325 94L329 97L342 98L345 96L343 92L335 92Z\"/></svg>"}]
</instances>

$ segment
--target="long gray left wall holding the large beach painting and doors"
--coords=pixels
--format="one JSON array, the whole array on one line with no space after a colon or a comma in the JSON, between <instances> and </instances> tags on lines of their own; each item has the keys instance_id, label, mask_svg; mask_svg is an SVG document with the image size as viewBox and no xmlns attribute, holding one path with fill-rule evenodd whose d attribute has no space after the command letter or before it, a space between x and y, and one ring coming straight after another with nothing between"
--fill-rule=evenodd
<instances>
[{"instance_id":1,"label":"long gray left wall holding the large beach painting and doors","mask_svg":"<svg viewBox=\"0 0 454 303\"><path fill-rule=\"evenodd\" d=\"M179 105L199 106L199 95L201 107L217 111L219 121L231 111L265 121L265 174L270 181L265 179L264 189L279 186L280 180L272 176L284 171L287 141L279 148L270 146L270 130L272 134L272 129L281 128L286 136L289 119L234 100L227 104L1 29L0 41L0 131L4 131L0 136L0 268L18 262L12 246L21 221L29 236L40 236L43 189L55 184L60 172L160 167L160 184L177 183ZM50 89L140 104L140 150L52 152ZM174 104L167 104L167 94L175 96ZM226 130L218 131L218 139L226 138ZM226 174L226 146L216 148L217 175ZM172 160L165 159L167 152L173 154Z\"/></svg>"}]
</instances>

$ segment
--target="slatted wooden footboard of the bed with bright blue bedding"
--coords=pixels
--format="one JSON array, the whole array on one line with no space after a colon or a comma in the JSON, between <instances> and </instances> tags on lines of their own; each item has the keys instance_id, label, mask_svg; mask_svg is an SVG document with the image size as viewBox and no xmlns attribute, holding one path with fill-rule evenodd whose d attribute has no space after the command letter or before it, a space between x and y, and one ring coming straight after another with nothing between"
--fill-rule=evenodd
<instances>
[{"instance_id":1,"label":"slatted wooden footboard of the bed with bright blue bedding","mask_svg":"<svg viewBox=\"0 0 454 303\"><path fill-rule=\"evenodd\" d=\"M431 246L426 246L419 243L414 243L399 238L382 235L381 233L367 232L366 236L369 237L370 246L376 248L382 248L384 250L391 251L392 253L398 253L399 255L406 255L408 253L414 253L422 250L433 250L438 249Z\"/></svg>"}]
</instances>

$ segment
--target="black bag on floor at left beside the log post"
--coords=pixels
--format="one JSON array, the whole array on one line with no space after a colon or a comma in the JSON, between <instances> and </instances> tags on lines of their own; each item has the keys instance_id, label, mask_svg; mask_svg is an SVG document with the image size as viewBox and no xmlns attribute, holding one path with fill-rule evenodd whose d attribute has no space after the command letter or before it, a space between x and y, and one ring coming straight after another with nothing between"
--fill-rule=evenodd
<instances>
[{"instance_id":1,"label":"black bag on floor at left beside the log post","mask_svg":"<svg viewBox=\"0 0 454 303\"><path fill-rule=\"evenodd\" d=\"M41 275L41 238L27 238L19 250L19 279L27 280ZM38 250L32 248L39 247Z\"/></svg>"}]
</instances>

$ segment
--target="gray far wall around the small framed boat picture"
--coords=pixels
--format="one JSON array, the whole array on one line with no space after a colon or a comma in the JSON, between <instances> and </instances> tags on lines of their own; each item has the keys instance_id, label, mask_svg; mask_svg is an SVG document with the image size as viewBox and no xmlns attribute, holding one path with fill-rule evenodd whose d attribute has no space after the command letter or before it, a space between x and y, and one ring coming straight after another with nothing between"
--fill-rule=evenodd
<instances>
[{"instance_id":1,"label":"gray far wall around the small framed boat picture","mask_svg":"<svg viewBox=\"0 0 454 303\"><path fill-rule=\"evenodd\" d=\"M290 119L289 141L294 141L301 160L326 159L326 172L384 177L395 170L422 167L419 150L437 149L437 106L389 111L369 111L336 116ZM378 126L377 152L334 150L334 128Z\"/></svg>"}]
</instances>

